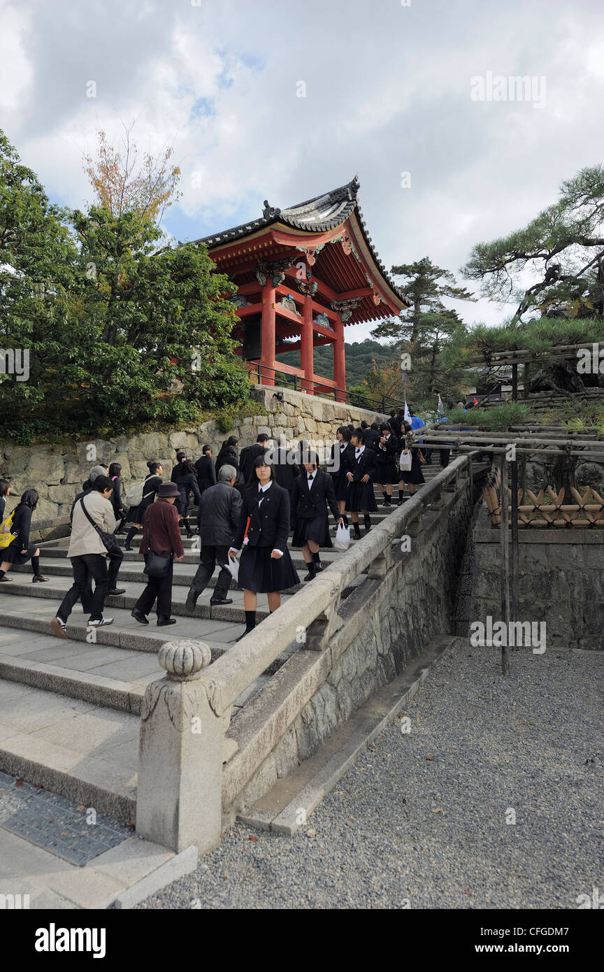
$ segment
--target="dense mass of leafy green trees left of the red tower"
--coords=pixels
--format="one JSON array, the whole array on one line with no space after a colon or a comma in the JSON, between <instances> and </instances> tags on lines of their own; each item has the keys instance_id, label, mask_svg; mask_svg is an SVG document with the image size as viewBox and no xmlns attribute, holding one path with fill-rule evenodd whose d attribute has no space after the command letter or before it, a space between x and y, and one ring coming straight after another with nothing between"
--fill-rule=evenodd
<instances>
[{"instance_id":1,"label":"dense mass of leafy green trees left of the red tower","mask_svg":"<svg viewBox=\"0 0 604 972\"><path fill-rule=\"evenodd\" d=\"M2 341L30 356L28 381L0 375L0 435L192 422L247 397L234 288L205 248L158 251L136 212L51 206L4 135L0 194Z\"/></svg>"}]
</instances>

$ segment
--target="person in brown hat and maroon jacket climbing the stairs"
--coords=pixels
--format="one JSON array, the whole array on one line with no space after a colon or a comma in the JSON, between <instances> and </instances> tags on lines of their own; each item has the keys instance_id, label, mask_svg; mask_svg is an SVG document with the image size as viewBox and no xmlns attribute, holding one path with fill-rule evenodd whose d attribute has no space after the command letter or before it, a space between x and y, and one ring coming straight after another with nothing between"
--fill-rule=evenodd
<instances>
[{"instance_id":1,"label":"person in brown hat and maroon jacket climbing the stairs","mask_svg":"<svg viewBox=\"0 0 604 972\"><path fill-rule=\"evenodd\" d=\"M157 599L157 626L176 624L172 613L172 565L180 564L185 556L179 514L174 501L179 495L176 483L162 483L157 490L154 503L145 510L143 517L143 539L139 553L147 555L150 550L156 554L170 554L168 569L163 577L150 576L147 587L132 610L132 617L140 624L149 624L147 615ZM145 556L147 562L147 556Z\"/></svg>"}]
</instances>

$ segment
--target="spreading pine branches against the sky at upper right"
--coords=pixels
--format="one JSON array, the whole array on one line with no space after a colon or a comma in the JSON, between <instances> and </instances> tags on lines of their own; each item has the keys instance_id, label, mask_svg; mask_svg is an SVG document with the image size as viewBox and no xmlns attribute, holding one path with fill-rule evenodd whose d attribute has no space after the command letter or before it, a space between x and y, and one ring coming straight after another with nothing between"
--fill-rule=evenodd
<instances>
[{"instance_id":1,"label":"spreading pine branches against the sky at upper right","mask_svg":"<svg viewBox=\"0 0 604 972\"><path fill-rule=\"evenodd\" d=\"M478 243L461 272L491 300L519 301L514 323L536 311L604 317L604 167L563 182L558 201L523 229ZM527 274L537 278L528 288Z\"/></svg>"}]
</instances>

